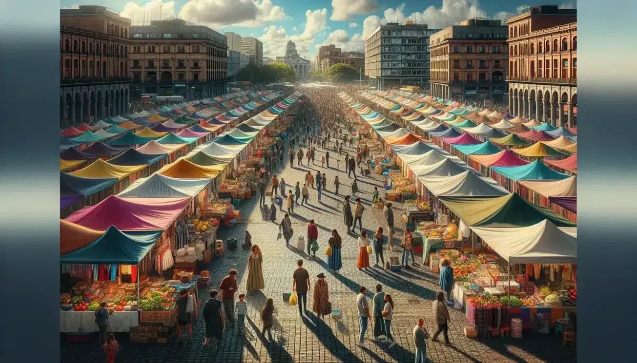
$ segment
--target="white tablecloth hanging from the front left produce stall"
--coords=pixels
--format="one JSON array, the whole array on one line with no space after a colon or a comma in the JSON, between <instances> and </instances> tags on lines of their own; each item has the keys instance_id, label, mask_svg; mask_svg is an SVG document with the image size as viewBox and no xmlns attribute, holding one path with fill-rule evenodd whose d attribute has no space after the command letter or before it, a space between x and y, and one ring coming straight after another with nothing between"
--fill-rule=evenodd
<instances>
[{"instance_id":1,"label":"white tablecloth hanging from the front left produce stall","mask_svg":"<svg viewBox=\"0 0 637 363\"><path fill-rule=\"evenodd\" d=\"M108 318L109 332L129 332L132 326L140 325L138 312L114 312ZM95 312L60 311L60 332L98 331Z\"/></svg>"}]
</instances>

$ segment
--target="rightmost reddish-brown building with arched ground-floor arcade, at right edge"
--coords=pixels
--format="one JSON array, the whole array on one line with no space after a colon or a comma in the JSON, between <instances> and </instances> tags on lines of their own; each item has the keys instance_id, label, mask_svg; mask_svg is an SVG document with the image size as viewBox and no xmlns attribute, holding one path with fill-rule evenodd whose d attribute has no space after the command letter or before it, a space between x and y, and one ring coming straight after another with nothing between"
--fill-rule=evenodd
<instances>
[{"instance_id":1,"label":"rightmost reddish-brown building with arched ground-floor arcade, at right edge","mask_svg":"<svg viewBox=\"0 0 637 363\"><path fill-rule=\"evenodd\" d=\"M510 113L575 127L577 10L534 6L506 24Z\"/></svg>"}]
</instances>

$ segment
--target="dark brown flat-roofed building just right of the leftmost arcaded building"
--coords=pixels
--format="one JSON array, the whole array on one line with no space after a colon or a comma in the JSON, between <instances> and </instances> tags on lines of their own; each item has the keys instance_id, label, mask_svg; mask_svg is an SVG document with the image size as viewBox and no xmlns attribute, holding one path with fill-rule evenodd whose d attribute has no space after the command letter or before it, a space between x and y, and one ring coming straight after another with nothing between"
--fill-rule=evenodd
<instances>
[{"instance_id":1,"label":"dark brown flat-roofed building just right of the leftmost arcaded building","mask_svg":"<svg viewBox=\"0 0 637 363\"><path fill-rule=\"evenodd\" d=\"M227 39L182 19L131 27L132 97L143 93L187 100L226 93Z\"/></svg>"}]
</instances>

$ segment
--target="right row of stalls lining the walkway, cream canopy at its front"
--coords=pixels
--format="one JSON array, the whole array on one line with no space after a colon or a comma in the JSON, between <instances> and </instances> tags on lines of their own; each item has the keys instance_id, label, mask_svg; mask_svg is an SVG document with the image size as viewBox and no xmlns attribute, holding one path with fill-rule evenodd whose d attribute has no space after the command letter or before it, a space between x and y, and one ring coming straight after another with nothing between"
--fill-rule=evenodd
<instances>
[{"instance_id":1,"label":"right row of stalls lining the walkway, cream canopy at its front","mask_svg":"<svg viewBox=\"0 0 637 363\"><path fill-rule=\"evenodd\" d=\"M441 259L451 261L455 306L476 329L509 327L520 319L520 329L541 325L543 331L575 312L576 223L525 195L575 196L575 175L436 120L439 102L406 109L372 93L340 97L359 116L362 142L378 144L373 166L387 177L385 198L404 203L403 218L418 237L414 246L422 246L415 252L422 250L433 271ZM436 134L448 130L457 135ZM475 155L476 149L487 154ZM490 164L485 172L466 162L499 153L513 165Z\"/></svg>"}]
</instances>

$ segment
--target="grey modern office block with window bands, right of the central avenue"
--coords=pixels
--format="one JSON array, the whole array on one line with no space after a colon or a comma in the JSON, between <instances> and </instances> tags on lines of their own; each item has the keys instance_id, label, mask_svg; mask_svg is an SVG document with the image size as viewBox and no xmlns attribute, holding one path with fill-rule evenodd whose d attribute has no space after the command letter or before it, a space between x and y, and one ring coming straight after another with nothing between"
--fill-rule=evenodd
<instances>
[{"instance_id":1,"label":"grey modern office block with window bands, right of the central avenue","mask_svg":"<svg viewBox=\"0 0 637 363\"><path fill-rule=\"evenodd\" d=\"M426 24L387 23L365 41L365 76L376 89L405 85L427 88L429 37L438 29Z\"/></svg>"}]
</instances>

